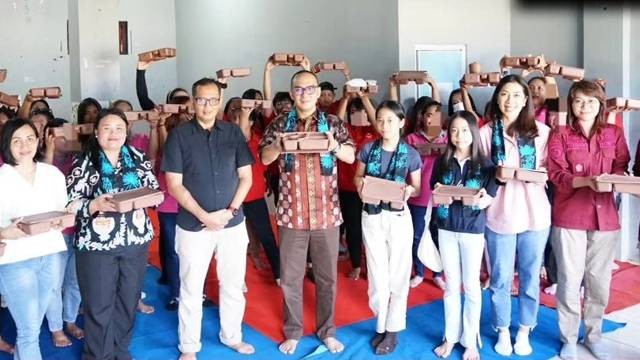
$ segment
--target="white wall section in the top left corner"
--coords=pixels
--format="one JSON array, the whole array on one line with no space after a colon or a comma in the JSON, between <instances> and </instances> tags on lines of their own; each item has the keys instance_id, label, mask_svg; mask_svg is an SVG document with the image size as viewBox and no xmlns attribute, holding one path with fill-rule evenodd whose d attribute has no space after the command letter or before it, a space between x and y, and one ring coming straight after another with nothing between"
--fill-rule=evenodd
<instances>
[{"instance_id":1,"label":"white wall section in the top left corner","mask_svg":"<svg viewBox=\"0 0 640 360\"><path fill-rule=\"evenodd\" d=\"M60 86L63 97L48 102L68 117L67 0L0 1L0 14L0 68L8 70L0 91L24 99L30 88Z\"/></svg>"}]
</instances>

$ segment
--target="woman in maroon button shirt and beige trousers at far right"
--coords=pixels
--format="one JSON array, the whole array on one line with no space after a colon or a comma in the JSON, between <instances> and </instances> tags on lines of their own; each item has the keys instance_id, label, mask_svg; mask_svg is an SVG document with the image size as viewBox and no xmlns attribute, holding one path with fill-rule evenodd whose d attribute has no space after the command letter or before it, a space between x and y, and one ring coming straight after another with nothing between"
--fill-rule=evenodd
<instances>
[{"instance_id":1,"label":"woman in maroon button shirt and beige trousers at far right","mask_svg":"<svg viewBox=\"0 0 640 360\"><path fill-rule=\"evenodd\" d=\"M622 129L605 121L605 94L598 84L573 84L567 102L567 126L551 136L548 155L549 178L556 185L551 239L558 266L558 324L564 343L560 357L577 359L582 310L584 344L603 359L607 349L601 341L602 317L609 301L620 220L613 193L598 192L595 177L624 174L630 156Z\"/></svg>"}]
</instances>

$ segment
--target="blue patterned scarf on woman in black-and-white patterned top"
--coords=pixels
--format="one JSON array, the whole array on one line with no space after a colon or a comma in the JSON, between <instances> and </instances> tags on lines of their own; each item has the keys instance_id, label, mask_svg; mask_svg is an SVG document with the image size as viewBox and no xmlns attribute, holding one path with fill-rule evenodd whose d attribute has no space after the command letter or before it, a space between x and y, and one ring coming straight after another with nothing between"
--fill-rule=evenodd
<instances>
[{"instance_id":1,"label":"blue patterned scarf on woman in black-and-white patterned top","mask_svg":"<svg viewBox=\"0 0 640 360\"><path fill-rule=\"evenodd\" d=\"M120 162L122 166L122 189L131 190L137 189L141 186L138 172L136 171L136 164L131 156L131 151L127 146L123 146L120 149ZM111 162L104 155L104 152L100 151L100 188L103 193L113 194L119 192L118 179L116 177L116 170L111 165Z\"/></svg>"}]
</instances>

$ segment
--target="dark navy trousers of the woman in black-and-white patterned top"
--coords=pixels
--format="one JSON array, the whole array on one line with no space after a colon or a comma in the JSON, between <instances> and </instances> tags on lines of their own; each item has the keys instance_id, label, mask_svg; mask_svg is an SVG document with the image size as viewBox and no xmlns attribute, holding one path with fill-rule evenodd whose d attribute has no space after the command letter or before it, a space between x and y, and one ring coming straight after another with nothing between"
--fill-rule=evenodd
<instances>
[{"instance_id":1,"label":"dark navy trousers of the woman in black-and-white patterned top","mask_svg":"<svg viewBox=\"0 0 640 360\"><path fill-rule=\"evenodd\" d=\"M76 251L84 309L83 360L130 360L136 307L149 243L108 251Z\"/></svg>"}]
</instances>

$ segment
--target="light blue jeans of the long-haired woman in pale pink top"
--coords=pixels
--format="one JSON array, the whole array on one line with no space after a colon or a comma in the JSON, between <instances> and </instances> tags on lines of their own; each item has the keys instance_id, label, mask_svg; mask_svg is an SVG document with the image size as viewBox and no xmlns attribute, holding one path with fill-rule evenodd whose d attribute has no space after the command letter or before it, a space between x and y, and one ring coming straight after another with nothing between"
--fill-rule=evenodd
<instances>
[{"instance_id":1,"label":"light blue jeans of the long-haired woman in pale pink top","mask_svg":"<svg viewBox=\"0 0 640 360\"><path fill-rule=\"evenodd\" d=\"M540 306L540 267L549 228L519 234L498 234L486 228L487 249L491 261L491 308L493 326L511 324L511 284L516 254L518 256L519 325L535 326Z\"/></svg>"}]
</instances>

